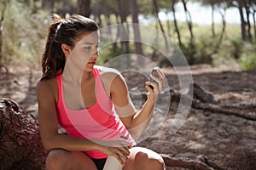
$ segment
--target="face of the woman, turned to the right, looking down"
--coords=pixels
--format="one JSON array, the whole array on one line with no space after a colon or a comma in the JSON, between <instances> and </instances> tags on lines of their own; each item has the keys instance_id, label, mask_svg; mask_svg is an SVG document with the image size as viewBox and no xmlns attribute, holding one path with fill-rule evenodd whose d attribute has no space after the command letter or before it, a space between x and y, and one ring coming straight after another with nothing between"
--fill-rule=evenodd
<instances>
[{"instance_id":1,"label":"face of the woman, turned to the right, looking down","mask_svg":"<svg viewBox=\"0 0 256 170\"><path fill-rule=\"evenodd\" d=\"M86 32L79 41L75 42L71 53L66 56L66 60L72 58L79 68L83 68L84 71L92 71L99 56L99 38L98 31Z\"/></svg>"}]
</instances>

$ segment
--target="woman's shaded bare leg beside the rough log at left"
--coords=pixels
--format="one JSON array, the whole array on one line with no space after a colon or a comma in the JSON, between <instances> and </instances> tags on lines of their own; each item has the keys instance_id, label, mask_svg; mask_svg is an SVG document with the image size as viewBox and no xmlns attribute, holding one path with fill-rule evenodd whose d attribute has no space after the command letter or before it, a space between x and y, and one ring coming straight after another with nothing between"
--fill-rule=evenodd
<instances>
[{"instance_id":1,"label":"woman's shaded bare leg beside the rough log at left","mask_svg":"<svg viewBox=\"0 0 256 170\"><path fill-rule=\"evenodd\" d=\"M46 170L97 169L90 157L80 151L50 150L45 163Z\"/></svg>"}]
</instances>

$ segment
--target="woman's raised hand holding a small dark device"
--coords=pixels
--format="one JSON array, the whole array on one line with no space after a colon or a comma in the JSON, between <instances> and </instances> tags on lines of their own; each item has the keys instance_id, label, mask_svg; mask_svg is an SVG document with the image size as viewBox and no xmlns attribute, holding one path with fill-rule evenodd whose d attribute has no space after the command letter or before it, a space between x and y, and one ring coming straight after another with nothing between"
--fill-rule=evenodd
<instances>
[{"instance_id":1,"label":"woman's raised hand holding a small dark device","mask_svg":"<svg viewBox=\"0 0 256 170\"><path fill-rule=\"evenodd\" d=\"M160 94L160 91L163 89L166 76L160 69L158 69L156 73L158 77L155 77L154 75L150 74L150 77L155 82L146 82L146 88L148 90L148 99L156 100L157 96ZM152 86L153 88L150 88L149 86Z\"/></svg>"}]
</instances>

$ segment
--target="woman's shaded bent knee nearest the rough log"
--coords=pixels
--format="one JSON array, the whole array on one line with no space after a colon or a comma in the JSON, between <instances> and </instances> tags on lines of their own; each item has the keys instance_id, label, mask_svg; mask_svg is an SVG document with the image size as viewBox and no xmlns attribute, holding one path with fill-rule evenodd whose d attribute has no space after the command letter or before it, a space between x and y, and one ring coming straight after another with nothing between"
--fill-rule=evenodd
<instances>
[{"instance_id":1,"label":"woman's shaded bent knee nearest the rough log","mask_svg":"<svg viewBox=\"0 0 256 170\"><path fill-rule=\"evenodd\" d=\"M45 160L46 169L61 169L61 166L67 162L68 154L67 150L50 150Z\"/></svg>"}]
</instances>

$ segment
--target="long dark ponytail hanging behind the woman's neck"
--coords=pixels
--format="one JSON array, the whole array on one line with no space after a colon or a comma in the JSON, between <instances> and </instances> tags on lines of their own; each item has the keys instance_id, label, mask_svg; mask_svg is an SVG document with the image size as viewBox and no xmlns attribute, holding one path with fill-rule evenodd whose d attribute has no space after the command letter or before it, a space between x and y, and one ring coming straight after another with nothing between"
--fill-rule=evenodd
<instances>
[{"instance_id":1,"label":"long dark ponytail hanging behind the woman's neck","mask_svg":"<svg viewBox=\"0 0 256 170\"><path fill-rule=\"evenodd\" d=\"M43 77L41 80L46 80L56 76L59 69L64 68L65 57L61 50L61 43L55 41L55 35L58 27L61 25L61 16L53 14L52 24L49 25L48 37L44 48L42 58Z\"/></svg>"}]
</instances>

